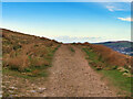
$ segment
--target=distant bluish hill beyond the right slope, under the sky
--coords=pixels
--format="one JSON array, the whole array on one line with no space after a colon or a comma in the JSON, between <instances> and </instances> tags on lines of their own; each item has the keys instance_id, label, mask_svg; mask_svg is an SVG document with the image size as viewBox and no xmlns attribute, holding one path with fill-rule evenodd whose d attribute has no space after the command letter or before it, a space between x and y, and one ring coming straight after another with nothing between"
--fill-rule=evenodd
<instances>
[{"instance_id":1,"label":"distant bluish hill beyond the right slope, under the sky","mask_svg":"<svg viewBox=\"0 0 133 99\"><path fill-rule=\"evenodd\" d=\"M105 45L116 52L133 56L133 42L116 41L116 42L103 42L103 43L96 43L96 44Z\"/></svg>"}]
</instances>

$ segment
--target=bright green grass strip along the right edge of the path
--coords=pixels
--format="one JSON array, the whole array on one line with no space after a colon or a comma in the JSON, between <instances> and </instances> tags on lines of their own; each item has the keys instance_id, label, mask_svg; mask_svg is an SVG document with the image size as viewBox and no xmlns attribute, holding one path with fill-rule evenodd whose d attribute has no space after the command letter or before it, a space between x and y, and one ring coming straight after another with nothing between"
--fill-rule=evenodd
<instances>
[{"instance_id":1,"label":"bright green grass strip along the right edge of the path","mask_svg":"<svg viewBox=\"0 0 133 99\"><path fill-rule=\"evenodd\" d=\"M90 62L90 65L93 69L95 69L98 73L103 74L104 78L108 78L111 82L111 85L115 86L117 89L120 89L121 92L126 91L126 96L131 94L131 77L123 76L123 73L119 72L116 68L113 68L114 66L108 67L110 70L101 69L98 70L96 66L99 66L99 63L103 63L102 59L99 57L96 53L94 53L90 48L83 48L83 51L86 53L86 59ZM132 79L133 80L133 79Z\"/></svg>"}]
</instances>

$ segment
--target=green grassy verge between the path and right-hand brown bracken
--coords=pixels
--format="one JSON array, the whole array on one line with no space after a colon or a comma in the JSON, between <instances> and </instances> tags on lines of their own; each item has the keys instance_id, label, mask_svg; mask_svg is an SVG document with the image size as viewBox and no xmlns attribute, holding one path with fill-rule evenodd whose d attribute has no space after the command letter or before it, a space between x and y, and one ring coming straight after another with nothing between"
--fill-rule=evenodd
<instances>
[{"instance_id":1,"label":"green grassy verge between the path and right-hand brown bracken","mask_svg":"<svg viewBox=\"0 0 133 99\"><path fill-rule=\"evenodd\" d=\"M89 47L82 48L86 53L86 59L93 69L101 74L103 79L109 80L109 85L114 86L117 95L130 96L131 77L126 77L122 72L117 70L117 66L111 66ZM104 68L105 67L105 68Z\"/></svg>"}]
</instances>

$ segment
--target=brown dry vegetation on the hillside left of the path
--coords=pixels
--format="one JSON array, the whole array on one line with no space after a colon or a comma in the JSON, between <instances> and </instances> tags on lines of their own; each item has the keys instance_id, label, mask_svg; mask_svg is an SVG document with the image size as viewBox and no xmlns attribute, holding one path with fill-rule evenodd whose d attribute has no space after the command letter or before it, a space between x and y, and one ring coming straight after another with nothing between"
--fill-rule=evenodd
<instances>
[{"instance_id":1,"label":"brown dry vegetation on the hillside left of the path","mask_svg":"<svg viewBox=\"0 0 133 99\"><path fill-rule=\"evenodd\" d=\"M2 29L3 67L24 72L29 67L50 66L58 46L53 40Z\"/></svg>"}]
</instances>

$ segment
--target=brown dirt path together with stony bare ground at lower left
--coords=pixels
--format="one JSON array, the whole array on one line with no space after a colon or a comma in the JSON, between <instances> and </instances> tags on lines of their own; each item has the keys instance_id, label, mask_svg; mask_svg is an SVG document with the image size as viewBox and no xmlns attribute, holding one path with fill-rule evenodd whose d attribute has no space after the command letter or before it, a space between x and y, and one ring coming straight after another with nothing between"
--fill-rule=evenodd
<instances>
[{"instance_id":1,"label":"brown dirt path together with stony bare ground at lower left","mask_svg":"<svg viewBox=\"0 0 133 99\"><path fill-rule=\"evenodd\" d=\"M85 54L73 45L61 45L48 70L47 80L3 75L2 87L9 97L116 97L89 66Z\"/></svg>"}]
</instances>

